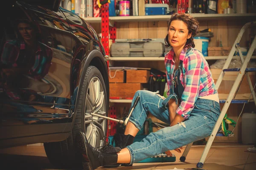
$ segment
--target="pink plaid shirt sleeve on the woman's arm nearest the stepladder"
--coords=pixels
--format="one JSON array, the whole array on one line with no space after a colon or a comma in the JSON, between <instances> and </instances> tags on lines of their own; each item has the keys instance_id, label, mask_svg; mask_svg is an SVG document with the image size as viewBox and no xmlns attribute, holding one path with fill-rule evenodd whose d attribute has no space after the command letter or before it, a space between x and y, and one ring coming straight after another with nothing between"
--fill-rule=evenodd
<instances>
[{"instance_id":1,"label":"pink plaid shirt sleeve on the woman's arm nearest the stepladder","mask_svg":"<svg viewBox=\"0 0 256 170\"><path fill-rule=\"evenodd\" d=\"M194 108L195 101L198 99L204 62L200 54L192 53L184 59L183 65L185 69L184 91L176 113L187 119Z\"/></svg>"}]
</instances>

